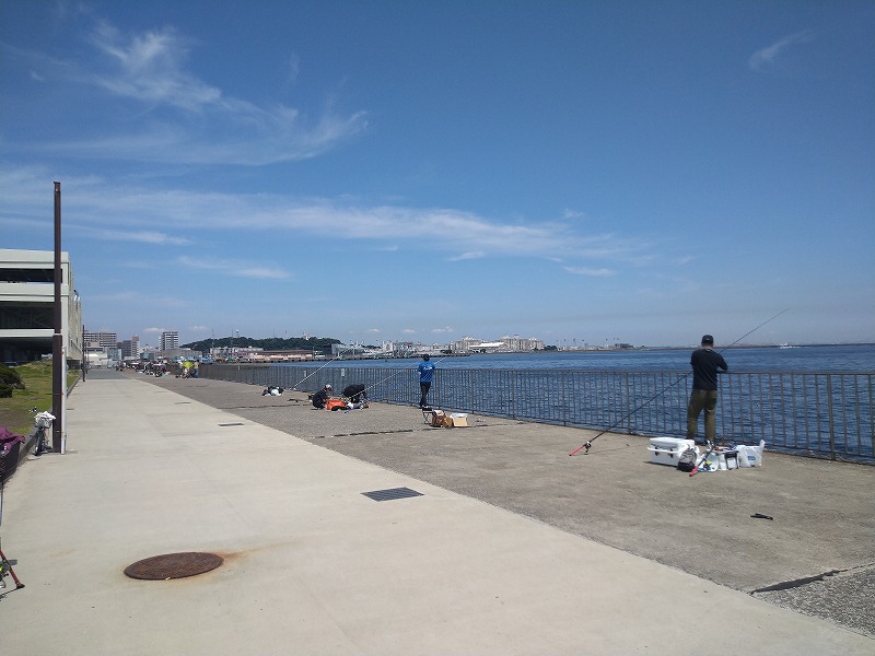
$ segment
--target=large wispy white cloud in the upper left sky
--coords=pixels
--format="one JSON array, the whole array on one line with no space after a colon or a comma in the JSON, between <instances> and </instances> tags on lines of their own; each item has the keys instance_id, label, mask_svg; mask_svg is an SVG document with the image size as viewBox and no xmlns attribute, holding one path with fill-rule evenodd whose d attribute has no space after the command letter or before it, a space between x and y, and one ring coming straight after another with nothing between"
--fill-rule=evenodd
<instances>
[{"instance_id":1,"label":"large wispy white cloud in the upper left sky","mask_svg":"<svg viewBox=\"0 0 875 656\"><path fill-rule=\"evenodd\" d=\"M112 109L106 116L135 113L136 130L130 121L114 129L110 120L98 120L96 132L74 141L31 143L28 152L261 166L317 156L368 128L364 112L341 114L330 99L320 115L307 117L279 103L256 105L225 95L186 68L196 44L172 27L127 35L102 22L90 43L94 60L59 62L38 52L13 54L26 59L34 79L59 82L55 102L63 102L60 82L101 89L107 97L92 101ZM289 66L296 75L296 56Z\"/></svg>"}]
</instances>

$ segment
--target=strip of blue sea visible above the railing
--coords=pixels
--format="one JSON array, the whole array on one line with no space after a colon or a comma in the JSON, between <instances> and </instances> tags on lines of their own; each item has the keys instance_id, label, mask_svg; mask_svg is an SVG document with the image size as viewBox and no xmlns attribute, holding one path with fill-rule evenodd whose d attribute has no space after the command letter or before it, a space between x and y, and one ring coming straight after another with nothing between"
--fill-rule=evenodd
<instances>
[{"instance_id":1,"label":"strip of blue sea visible above the railing","mask_svg":"<svg viewBox=\"0 0 875 656\"><path fill-rule=\"evenodd\" d=\"M719 350L719 349L718 349ZM690 368L692 349L648 351L585 351L495 353L463 358L432 358L441 368L453 370L590 370L680 371ZM722 351L733 372L875 372L875 344L727 349ZM322 366L325 363L311 363ZM418 359L346 360L327 366L416 368Z\"/></svg>"}]
</instances>

